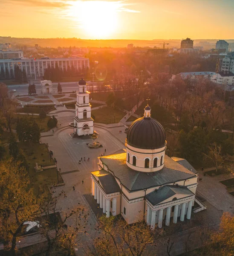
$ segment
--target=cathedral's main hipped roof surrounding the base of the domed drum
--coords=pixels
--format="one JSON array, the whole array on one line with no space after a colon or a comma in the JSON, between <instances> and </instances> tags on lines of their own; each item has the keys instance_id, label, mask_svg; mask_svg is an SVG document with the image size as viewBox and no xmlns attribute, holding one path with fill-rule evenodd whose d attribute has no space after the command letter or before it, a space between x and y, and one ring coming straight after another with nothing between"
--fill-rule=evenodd
<instances>
[{"instance_id":1,"label":"cathedral's main hipped roof surrounding the base of the domed drum","mask_svg":"<svg viewBox=\"0 0 234 256\"><path fill-rule=\"evenodd\" d=\"M167 155L164 167L157 172L139 172L131 169L126 165L126 153L98 158L129 191L161 186L196 176Z\"/></svg>"}]
</instances>

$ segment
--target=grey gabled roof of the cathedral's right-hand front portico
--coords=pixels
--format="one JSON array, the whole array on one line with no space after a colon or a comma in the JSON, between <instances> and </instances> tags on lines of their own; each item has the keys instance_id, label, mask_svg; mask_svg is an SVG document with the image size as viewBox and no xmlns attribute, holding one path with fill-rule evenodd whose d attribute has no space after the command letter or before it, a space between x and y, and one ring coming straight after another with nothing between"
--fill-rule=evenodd
<instances>
[{"instance_id":1,"label":"grey gabled roof of the cathedral's right-hand front portico","mask_svg":"<svg viewBox=\"0 0 234 256\"><path fill-rule=\"evenodd\" d=\"M185 186L166 185L166 186L162 186L158 190L155 190L155 191L147 194L145 197L152 205L157 205L174 195L188 195L189 196L189 195L194 195L194 193L191 192L189 189L187 189Z\"/></svg>"}]
</instances>

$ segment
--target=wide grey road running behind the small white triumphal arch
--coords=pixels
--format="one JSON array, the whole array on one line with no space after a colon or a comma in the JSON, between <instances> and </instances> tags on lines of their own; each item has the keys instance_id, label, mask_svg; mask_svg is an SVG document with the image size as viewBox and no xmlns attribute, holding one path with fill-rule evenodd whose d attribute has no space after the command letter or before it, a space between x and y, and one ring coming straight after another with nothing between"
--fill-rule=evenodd
<instances>
[{"instance_id":1,"label":"wide grey road running behind the small white triumphal arch","mask_svg":"<svg viewBox=\"0 0 234 256\"><path fill-rule=\"evenodd\" d=\"M97 90L97 82L92 83L91 81L88 81L87 83L90 84L90 86L87 86L88 91ZM61 82L60 84L63 89L63 93L72 92L78 89L77 82ZM57 91L58 83L57 82L52 83L52 85L53 85L53 93L58 93ZM14 92L15 96L28 95L29 84L14 84L14 85L8 85L7 87L9 91L16 90L16 92ZM35 83L35 87L36 87L37 94L40 94L41 93L40 83Z\"/></svg>"}]
</instances>

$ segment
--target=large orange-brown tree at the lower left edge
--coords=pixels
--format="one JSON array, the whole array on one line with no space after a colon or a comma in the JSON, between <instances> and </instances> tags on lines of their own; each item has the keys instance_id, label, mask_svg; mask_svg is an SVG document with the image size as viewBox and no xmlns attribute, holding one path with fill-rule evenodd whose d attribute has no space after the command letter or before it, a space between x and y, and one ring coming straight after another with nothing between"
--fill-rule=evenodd
<instances>
[{"instance_id":1,"label":"large orange-brown tree at the lower left edge","mask_svg":"<svg viewBox=\"0 0 234 256\"><path fill-rule=\"evenodd\" d=\"M33 221L40 213L26 172L12 159L0 162L0 234L9 242L10 255L16 255L16 239L24 221Z\"/></svg>"}]
</instances>

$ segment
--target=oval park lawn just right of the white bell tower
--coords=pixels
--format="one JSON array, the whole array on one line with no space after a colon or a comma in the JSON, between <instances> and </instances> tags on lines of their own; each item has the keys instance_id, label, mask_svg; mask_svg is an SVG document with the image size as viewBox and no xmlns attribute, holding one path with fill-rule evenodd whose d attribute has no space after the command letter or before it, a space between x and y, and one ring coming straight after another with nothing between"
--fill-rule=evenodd
<instances>
[{"instance_id":1,"label":"oval park lawn just right of the white bell tower","mask_svg":"<svg viewBox=\"0 0 234 256\"><path fill-rule=\"evenodd\" d=\"M114 115L116 115L116 123L118 123L125 116L125 112L110 107L100 108L92 111L94 122L107 125L114 123Z\"/></svg>"}]
</instances>

